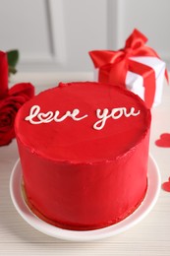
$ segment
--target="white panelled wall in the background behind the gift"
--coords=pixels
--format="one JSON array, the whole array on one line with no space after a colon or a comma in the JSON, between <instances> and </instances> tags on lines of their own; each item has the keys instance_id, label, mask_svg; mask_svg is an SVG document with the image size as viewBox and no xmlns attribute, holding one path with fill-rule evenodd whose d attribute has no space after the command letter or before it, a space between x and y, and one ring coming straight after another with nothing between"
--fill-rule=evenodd
<instances>
[{"instance_id":1,"label":"white panelled wall in the background behind the gift","mask_svg":"<svg viewBox=\"0 0 170 256\"><path fill-rule=\"evenodd\" d=\"M0 0L0 49L20 70L90 71L87 52L118 49L138 28L170 63L169 0Z\"/></svg>"}]
</instances>

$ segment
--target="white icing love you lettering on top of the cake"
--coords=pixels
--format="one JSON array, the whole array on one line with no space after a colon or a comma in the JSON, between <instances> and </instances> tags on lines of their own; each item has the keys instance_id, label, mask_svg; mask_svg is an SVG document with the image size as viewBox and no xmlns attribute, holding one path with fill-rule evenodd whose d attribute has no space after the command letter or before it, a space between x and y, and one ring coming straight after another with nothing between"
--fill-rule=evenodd
<instances>
[{"instance_id":1,"label":"white icing love you lettering on top of the cake","mask_svg":"<svg viewBox=\"0 0 170 256\"><path fill-rule=\"evenodd\" d=\"M95 114L98 120L93 124L93 128L95 130L101 130L104 127L108 118L112 118L116 120L121 118L122 116L125 116L125 117L137 116L140 114L140 110L136 111L135 107L131 107L129 111L126 107L112 108L111 111L109 111L108 108L104 108L103 110L98 108L96 109ZM46 113L43 113L40 111L39 105L33 105L30 108L29 115L25 118L25 120L31 124L41 124L41 123L45 124L45 123L50 123L52 121L62 122L68 117L72 118L74 121L81 121L88 116L87 114L80 116L80 110L78 108L75 108L73 111L68 110L64 115L60 117L59 115L60 115L59 110L56 110L54 112L48 111Z\"/></svg>"}]
</instances>

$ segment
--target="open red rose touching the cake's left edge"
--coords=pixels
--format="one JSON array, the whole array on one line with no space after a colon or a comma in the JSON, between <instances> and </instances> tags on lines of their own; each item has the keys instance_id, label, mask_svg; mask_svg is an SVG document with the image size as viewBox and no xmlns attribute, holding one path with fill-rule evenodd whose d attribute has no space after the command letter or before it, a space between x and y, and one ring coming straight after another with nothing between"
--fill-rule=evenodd
<instances>
[{"instance_id":1,"label":"open red rose touching the cake's left edge","mask_svg":"<svg viewBox=\"0 0 170 256\"><path fill-rule=\"evenodd\" d=\"M34 95L31 84L15 85L8 96L0 99L0 146L8 145L15 138L14 121L19 108Z\"/></svg>"}]
</instances>

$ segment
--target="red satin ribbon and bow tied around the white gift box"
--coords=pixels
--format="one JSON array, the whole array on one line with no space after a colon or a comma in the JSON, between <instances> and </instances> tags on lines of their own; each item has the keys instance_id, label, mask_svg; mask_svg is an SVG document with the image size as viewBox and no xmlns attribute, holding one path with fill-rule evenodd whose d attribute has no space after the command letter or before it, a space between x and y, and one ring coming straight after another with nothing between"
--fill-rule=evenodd
<instances>
[{"instance_id":1,"label":"red satin ribbon and bow tied around the white gift box","mask_svg":"<svg viewBox=\"0 0 170 256\"><path fill-rule=\"evenodd\" d=\"M157 53L145 43L147 38L142 32L134 32L126 40L125 47L117 50L94 50L89 55L95 68L99 69L98 81L125 87L127 72L131 71L142 75L144 86L144 101L148 108L152 106L155 95L155 72L152 68L132 60L131 57L152 56ZM159 58L160 59L160 58ZM168 73L165 70L168 81Z\"/></svg>"}]
</instances>

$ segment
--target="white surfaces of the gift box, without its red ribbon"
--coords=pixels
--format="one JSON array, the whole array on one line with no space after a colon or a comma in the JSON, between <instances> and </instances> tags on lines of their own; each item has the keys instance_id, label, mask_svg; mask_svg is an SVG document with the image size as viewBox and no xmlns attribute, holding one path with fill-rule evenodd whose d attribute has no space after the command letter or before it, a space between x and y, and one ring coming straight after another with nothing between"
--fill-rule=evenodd
<instances>
[{"instance_id":1,"label":"white surfaces of the gift box, without its red ribbon","mask_svg":"<svg viewBox=\"0 0 170 256\"><path fill-rule=\"evenodd\" d=\"M165 62L156 57L131 57L132 60L140 62L146 66L151 67L155 72L155 95L153 100L153 107L161 103L163 82L165 75ZM98 69L95 70L94 80L98 81ZM129 91L140 96L144 100L143 78L141 75L128 71L125 81L126 87Z\"/></svg>"}]
</instances>

